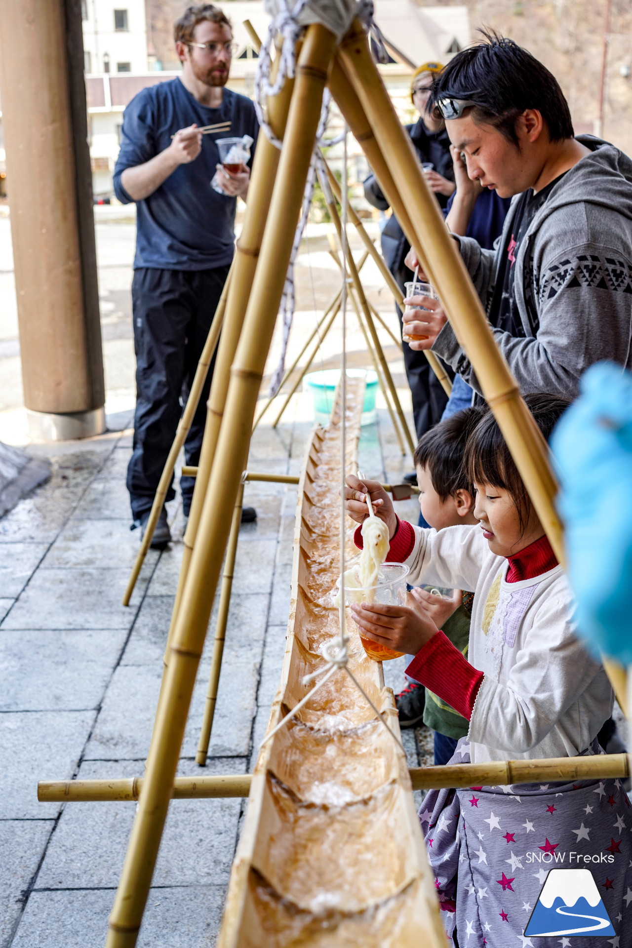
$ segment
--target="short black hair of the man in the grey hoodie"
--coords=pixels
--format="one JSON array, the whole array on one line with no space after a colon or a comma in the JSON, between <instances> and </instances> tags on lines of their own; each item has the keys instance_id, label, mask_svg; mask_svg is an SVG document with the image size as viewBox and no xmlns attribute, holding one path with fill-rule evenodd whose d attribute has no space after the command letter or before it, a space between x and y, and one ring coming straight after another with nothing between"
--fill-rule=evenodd
<instances>
[{"instance_id":1,"label":"short black hair of the man in the grey hoodie","mask_svg":"<svg viewBox=\"0 0 632 948\"><path fill-rule=\"evenodd\" d=\"M547 123L551 141L572 138L569 103L559 82L526 49L493 30L481 29L484 39L450 60L432 85L428 106L446 96L472 99L470 115L478 124L493 125L517 147L517 118L537 109Z\"/></svg>"}]
</instances>

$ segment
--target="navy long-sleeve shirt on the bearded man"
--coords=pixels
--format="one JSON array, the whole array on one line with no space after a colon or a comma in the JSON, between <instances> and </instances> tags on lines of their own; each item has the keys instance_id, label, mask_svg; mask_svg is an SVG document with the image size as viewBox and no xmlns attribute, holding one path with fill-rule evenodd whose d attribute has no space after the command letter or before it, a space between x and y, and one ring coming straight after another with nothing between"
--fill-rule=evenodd
<instances>
[{"instance_id":1,"label":"navy long-sleeve shirt on the bearded man","mask_svg":"<svg viewBox=\"0 0 632 948\"><path fill-rule=\"evenodd\" d=\"M255 107L245 96L225 88L222 105L210 109L179 79L143 89L125 109L114 172L114 190L123 204L132 201L120 181L126 168L163 152L178 129L226 119L231 122L228 132L205 135L194 161L179 165L153 194L136 202L135 269L206 270L230 264L237 198L210 187L219 162L215 139L249 135L256 143L259 124Z\"/></svg>"}]
</instances>

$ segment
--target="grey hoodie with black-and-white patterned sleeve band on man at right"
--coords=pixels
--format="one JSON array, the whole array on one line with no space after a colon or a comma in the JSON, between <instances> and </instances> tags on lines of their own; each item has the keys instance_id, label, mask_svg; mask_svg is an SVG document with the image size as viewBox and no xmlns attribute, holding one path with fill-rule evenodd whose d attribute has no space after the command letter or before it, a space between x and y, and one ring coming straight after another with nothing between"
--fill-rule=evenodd
<instances>
[{"instance_id":1,"label":"grey hoodie with black-and-white patterned sleeve band on man at right","mask_svg":"<svg viewBox=\"0 0 632 948\"><path fill-rule=\"evenodd\" d=\"M589 365L611 359L632 369L632 160L601 138L535 213L515 259L515 302L526 338L493 329L523 393L573 397ZM515 198L517 200L517 196ZM460 253L487 309L512 232L515 202L497 250L460 237ZM478 392L451 326L433 345Z\"/></svg>"}]
</instances>

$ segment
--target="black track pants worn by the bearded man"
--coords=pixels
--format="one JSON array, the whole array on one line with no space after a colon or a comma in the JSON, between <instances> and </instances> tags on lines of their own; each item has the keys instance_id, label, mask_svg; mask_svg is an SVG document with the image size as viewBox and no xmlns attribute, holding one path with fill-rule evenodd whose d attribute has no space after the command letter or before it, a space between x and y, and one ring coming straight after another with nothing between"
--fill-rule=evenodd
<instances>
[{"instance_id":1,"label":"black track pants worn by the bearded man","mask_svg":"<svg viewBox=\"0 0 632 948\"><path fill-rule=\"evenodd\" d=\"M227 273L227 266L211 270L144 268L134 272L136 409L127 489L135 519L152 506ZM200 460L214 364L215 356L185 443L188 465L197 465ZM193 478L180 480L186 514L194 483ZM174 497L171 484L167 500Z\"/></svg>"}]
</instances>

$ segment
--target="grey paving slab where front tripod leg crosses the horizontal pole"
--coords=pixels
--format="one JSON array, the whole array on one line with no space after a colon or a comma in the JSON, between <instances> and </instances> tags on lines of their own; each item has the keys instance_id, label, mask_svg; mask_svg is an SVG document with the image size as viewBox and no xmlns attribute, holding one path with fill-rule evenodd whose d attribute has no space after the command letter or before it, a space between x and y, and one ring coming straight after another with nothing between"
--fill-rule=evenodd
<instances>
[{"instance_id":1,"label":"grey paving slab where front tripod leg crosses the horizontal pole","mask_svg":"<svg viewBox=\"0 0 632 948\"><path fill-rule=\"evenodd\" d=\"M88 761L81 765L79 776L108 779L142 772L140 761ZM240 773L244 773L244 760L213 761L205 768L208 775ZM153 884L226 885L240 809L239 799L174 800ZM66 804L46 850L37 888L116 886L135 811L134 802Z\"/></svg>"}]
</instances>

